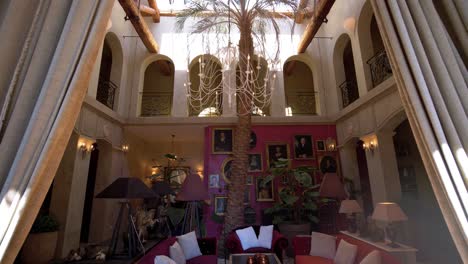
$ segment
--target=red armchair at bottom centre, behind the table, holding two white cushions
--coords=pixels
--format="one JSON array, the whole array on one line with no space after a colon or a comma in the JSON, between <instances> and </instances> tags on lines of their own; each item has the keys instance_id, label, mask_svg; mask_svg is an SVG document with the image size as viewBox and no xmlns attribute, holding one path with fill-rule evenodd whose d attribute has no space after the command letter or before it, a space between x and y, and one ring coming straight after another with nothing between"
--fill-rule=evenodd
<instances>
[{"instance_id":1,"label":"red armchair at bottom centre, behind the table, holding two white cushions","mask_svg":"<svg viewBox=\"0 0 468 264\"><path fill-rule=\"evenodd\" d=\"M260 232L260 226L252 226L255 234L258 237ZM283 250L288 247L288 239L281 235L280 232L277 230L273 230L273 238L271 240L271 249L268 248L249 248L247 250L242 249L241 242L239 237L236 234L236 230L243 229L244 227L239 227L231 231L228 236L226 237L226 248L229 250L230 254L238 254L238 253L275 253L276 256L282 261L283 260Z\"/></svg>"}]
</instances>

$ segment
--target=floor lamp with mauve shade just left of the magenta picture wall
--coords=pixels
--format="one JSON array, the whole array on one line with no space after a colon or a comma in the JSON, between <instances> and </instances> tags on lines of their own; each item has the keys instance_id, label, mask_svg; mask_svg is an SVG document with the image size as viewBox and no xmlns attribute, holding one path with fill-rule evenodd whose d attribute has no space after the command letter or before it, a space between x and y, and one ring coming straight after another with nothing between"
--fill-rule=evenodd
<instances>
[{"instance_id":1,"label":"floor lamp with mauve shade just left of the magenta picture wall","mask_svg":"<svg viewBox=\"0 0 468 264\"><path fill-rule=\"evenodd\" d=\"M202 236L198 204L200 201L208 200L209 198L208 190L198 174L190 174L185 178L176 196L177 201L187 202L182 226L183 234L195 230L198 237Z\"/></svg>"}]
</instances>

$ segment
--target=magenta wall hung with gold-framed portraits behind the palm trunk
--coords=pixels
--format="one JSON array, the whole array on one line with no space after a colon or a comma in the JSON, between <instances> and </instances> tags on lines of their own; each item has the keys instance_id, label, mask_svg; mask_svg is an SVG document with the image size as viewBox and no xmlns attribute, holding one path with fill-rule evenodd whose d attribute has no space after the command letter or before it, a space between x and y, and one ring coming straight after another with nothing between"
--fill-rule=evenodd
<instances>
[{"instance_id":1,"label":"magenta wall hung with gold-framed portraits behind the palm trunk","mask_svg":"<svg viewBox=\"0 0 468 264\"><path fill-rule=\"evenodd\" d=\"M336 139L335 131L334 125L327 124L252 126L243 204L256 210L257 224L261 223L262 210L278 199L278 188L287 184L279 178L267 186L261 183L276 160L288 159L290 168L310 166L325 171L339 170L337 152L327 151L325 145L328 137ZM233 138L233 126L205 129L204 181L212 197L206 211L208 215L222 216L224 212L220 204L227 202L223 197L227 197L230 178L234 177L231 173ZM314 177L317 183L321 179L320 175ZM208 235L216 235L211 227L207 231Z\"/></svg>"}]
</instances>

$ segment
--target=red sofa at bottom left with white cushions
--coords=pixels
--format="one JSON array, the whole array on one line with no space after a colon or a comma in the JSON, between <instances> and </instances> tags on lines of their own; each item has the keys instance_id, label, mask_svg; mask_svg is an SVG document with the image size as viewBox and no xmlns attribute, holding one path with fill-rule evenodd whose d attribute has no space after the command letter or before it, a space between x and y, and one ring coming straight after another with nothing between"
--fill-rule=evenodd
<instances>
[{"instance_id":1,"label":"red sofa at bottom left with white cushions","mask_svg":"<svg viewBox=\"0 0 468 264\"><path fill-rule=\"evenodd\" d=\"M187 260L187 264L217 264L218 263L218 247L216 238L198 238L198 246L200 251L203 254ZM169 247L172 246L177 241L176 237L167 238L151 250L146 252L146 254L138 260L137 264L154 264L154 258L158 255L169 256Z\"/></svg>"}]
</instances>

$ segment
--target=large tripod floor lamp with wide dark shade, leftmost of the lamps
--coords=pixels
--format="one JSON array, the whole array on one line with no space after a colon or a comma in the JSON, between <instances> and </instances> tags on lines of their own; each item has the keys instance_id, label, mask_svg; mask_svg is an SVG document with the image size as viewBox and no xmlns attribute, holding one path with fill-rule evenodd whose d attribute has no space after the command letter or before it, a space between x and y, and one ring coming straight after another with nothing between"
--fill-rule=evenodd
<instances>
[{"instance_id":1,"label":"large tripod floor lamp with wide dark shade, leftmost of the lamps","mask_svg":"<svg viewBox=\"0 0 468 264\"><path fill-rule=\"evenodd\" d=\"M109 251L107 257L111 258L115 255L117 249L117 243L119 240L120 226L122 225L122 219L125 209L127 209L127 220L128 220L128 257L132 258L138 254L138 248L144 251L143 244L138 237L138 231L135 226L135 221L132 217L132 207L130 200L133 199L144 199L154 198L157 195L148 188L138 178L118 178L101 191L96 198L106 199L121 199L119 214L115 221L114 228L112 230L112 238L110 241Z\"/></svg>"}]
</instances>

